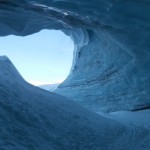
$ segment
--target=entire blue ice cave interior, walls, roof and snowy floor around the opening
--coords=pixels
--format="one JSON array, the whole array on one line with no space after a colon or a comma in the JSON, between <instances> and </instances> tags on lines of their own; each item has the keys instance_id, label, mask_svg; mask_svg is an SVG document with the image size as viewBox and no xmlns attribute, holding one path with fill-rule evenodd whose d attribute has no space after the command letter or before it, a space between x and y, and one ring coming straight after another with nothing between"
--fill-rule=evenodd
<instances>
[{"instance_id":1,"label":"entire blue ice cave interior, walls, roof and snowy floor around the opening","mask_svg":"<svg viewBox=\"0 0 150 150\"><path fill-rule=\"evenodd\" d=\"M1 150L150 149L150 0L0 0L0 36L61 30L68 78L50 93L0 56Z\"/></svg>"}]
</instances>

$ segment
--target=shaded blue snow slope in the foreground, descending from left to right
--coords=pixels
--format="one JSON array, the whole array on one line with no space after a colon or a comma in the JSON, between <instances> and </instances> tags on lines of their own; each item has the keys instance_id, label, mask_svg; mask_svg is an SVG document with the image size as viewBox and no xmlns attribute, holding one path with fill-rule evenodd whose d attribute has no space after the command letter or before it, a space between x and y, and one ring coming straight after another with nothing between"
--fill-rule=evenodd
<instances>
[{"instance_id":1,"label":"shaded blue snow slope in the foreground, descending from left to right","mask_svg":"<svg viewBox=\"0 0 150 150\"><path fill-rule=\"evenodd\" d=\"M149 133L26 83L0 57L0 150L149 150Z\"/></svg>"}]
</instances>

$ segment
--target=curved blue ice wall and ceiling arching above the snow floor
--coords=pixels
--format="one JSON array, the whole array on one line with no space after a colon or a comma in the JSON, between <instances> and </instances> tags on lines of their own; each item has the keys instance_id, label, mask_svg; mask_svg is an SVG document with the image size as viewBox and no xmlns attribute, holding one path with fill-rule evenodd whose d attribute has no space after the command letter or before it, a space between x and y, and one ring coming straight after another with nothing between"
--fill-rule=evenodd
<instances>
[{"instance_id":1,"label":"curved blue ice wall and ceiling arching above the snow floor","mask_svg":"<svg viewBox=\"0 0 150 150\"><path fill-rule=\"evenodd\" d=\"M149 0L1 0L0 35L63 30L71 73L56 91L94 111L149 105Z\"/></svg>"}]
</instances>

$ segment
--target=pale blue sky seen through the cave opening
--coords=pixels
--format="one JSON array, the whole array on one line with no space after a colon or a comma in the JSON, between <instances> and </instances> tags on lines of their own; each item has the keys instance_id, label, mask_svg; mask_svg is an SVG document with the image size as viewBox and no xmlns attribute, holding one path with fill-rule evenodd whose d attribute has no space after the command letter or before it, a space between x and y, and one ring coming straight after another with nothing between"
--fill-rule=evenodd
<instances>
[{"instance_id":1,"label":"pale blue sky seen through the cave opening","mask_svg":"<svg viewBox=\"0 0 150 150\"><path fill-rule=\"evenodd\" d=\"M66 79L73 49L70 37L56 30L42 30L25 37L0 37L0 55L8 56L23 78L34 85Z\"/></svg>"}]
</instances>

